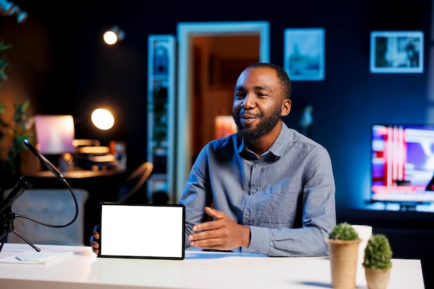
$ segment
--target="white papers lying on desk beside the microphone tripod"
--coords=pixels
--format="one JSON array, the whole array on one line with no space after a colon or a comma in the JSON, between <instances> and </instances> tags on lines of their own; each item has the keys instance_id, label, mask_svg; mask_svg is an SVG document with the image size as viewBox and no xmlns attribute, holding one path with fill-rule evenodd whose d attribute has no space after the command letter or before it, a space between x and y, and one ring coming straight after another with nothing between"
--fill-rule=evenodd
<instances>
[{"instance_id":1,"label":"white papers lying on desk beside the microphone tripod","mask_svg":"<svg viewBox=\"0 0 434 289\"><path fill-rule=\"evenodd\" d=\"M72 256L73 252L22 252L20 254L8 256L0 259L0 263L15 263L15 264L48 264L60 259L65 259L67 256Z\"/></svg>"}]
</instances>

